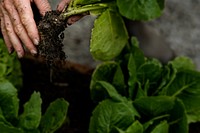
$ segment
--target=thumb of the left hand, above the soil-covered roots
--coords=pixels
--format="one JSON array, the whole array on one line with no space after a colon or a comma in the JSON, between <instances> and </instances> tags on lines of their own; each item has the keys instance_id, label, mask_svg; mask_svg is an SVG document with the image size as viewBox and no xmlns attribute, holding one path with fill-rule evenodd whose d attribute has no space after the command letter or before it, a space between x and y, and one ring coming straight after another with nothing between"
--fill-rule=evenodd
<instances>
[{"instance_id":1,"label":"thumb of the left hand, above the soil-covered roots","mask_svg":"<svg viewBox=\"0 0 200 133\"><path fill-rule=\"evenodd\" d=\"M34 2L37 8L39 9L40 14L43 16L45 15L47 11L51 10L51 6L48 0L34 0Z\"/></svg>"}]
</instances>

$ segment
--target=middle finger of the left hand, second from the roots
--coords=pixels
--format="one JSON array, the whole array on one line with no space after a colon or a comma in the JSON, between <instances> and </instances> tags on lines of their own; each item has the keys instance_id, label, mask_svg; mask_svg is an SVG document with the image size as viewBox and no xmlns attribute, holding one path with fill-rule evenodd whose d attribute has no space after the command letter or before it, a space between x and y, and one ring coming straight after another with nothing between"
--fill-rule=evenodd
<instances>
[{"instance_id":1,"label":"middle finger of the left hand, second from the roots","mask_svg":"<svg viewBox=\"0 0 200 133\"><path fill-rule=\"evenodd\" d=\"M32 43L31 39L29 38L25 28L23 27L18 12L13 6L12 3L7 3L7 10L8 12L12 12L10 14L10 19L14 27L14 31L17 34L17 36L20 38L22 43L26 46L26 48L33 54L37 54L36 48L34 47L34 44Z\"/></svg>"}]
</instances>

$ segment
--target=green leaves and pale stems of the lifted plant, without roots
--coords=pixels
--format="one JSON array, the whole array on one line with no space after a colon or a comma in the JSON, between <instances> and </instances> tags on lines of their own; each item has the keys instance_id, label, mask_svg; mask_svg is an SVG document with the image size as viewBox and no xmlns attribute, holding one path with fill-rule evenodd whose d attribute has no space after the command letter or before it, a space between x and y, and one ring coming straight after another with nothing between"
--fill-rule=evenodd
<instances>
[{"instance_id":1,"label":"green leaves and pale stems of the lifted plant, without roots","mask_svg":"<svg viewBox=\"0 0 200 133\"><path fill-rule=\"evenodd\" d=\"M73 0L64 17L89 12L97 14L90 41L94 59L106 61L117 57L129 36L123 17L131 20L151 20L159 17L164 0Z\"/></svg>"}]
</instances>

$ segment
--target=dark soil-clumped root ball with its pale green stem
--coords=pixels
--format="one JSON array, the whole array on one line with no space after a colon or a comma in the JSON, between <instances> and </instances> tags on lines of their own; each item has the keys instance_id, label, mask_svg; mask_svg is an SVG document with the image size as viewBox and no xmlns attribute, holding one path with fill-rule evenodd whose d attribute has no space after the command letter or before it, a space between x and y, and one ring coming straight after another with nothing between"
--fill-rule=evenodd
<instances>
[{"instance_id":1,"label":"dark soil-clumped root ball with its pale green stem","mask_svg":"<svg viewBox=\"0 0 200 133\"><path fill-rule=\"evenodd\" d=\"M62 12L49 11L38 23L40 42L39 55L45 57L47 64L52 65L55 60L65 60L63 52L63 31L67 28L67 19L70 16L98 11L106 8L106 4L89 4L84 6L68 6Z\"/></svg>"}]
</instances>

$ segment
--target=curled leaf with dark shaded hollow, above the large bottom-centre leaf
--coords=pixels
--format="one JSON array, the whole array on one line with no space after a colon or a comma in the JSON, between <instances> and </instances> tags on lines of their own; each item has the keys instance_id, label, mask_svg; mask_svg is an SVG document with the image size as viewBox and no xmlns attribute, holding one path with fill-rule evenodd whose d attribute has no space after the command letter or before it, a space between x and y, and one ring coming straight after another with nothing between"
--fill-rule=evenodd
<instances>
[{"instance_id":1,"label":"curled leaf with dark shaded hollow, above the large bottom-centre leaf","mask_svg":"<svg viewBox=\"0 0 200 133\"><path fill-rule=\"evenodd\" d=\"M123 97L116 91L114 86L105 81L98 81L91 90L91 97L94 101L101 101L110 98L114 101L123 101Z\"/></svg>"}]
</instances>

